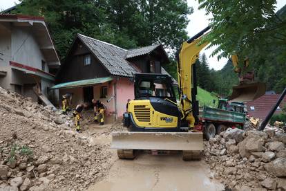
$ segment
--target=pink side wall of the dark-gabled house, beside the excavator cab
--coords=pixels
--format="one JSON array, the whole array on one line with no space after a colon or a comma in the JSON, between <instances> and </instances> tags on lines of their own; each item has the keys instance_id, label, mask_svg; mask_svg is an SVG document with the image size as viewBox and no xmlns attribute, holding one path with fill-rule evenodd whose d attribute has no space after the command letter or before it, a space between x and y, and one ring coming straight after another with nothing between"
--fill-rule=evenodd
<instances>
[{"instance_id":1,"label":"pink side wall of the dark-gabled house, beside the excavator cab","mask_svg":"<svg viewBox=\"0 0 286 191\"><path fill-rule=\"evenodd\" d=\"M127 100L134 99L134 84L128 78L119 78L116 84L117 117L122 118L126 111Z\"/></svg>"}]
</instances>

